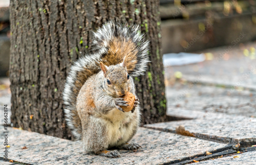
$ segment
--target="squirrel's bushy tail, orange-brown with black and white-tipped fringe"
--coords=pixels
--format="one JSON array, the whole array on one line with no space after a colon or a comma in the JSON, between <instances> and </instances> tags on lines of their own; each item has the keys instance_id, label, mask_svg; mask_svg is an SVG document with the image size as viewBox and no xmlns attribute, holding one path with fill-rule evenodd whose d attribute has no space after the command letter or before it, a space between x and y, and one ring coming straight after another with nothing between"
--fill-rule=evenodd
<instances>
[{"instance_id":1,"label":"squirrel's bushy tail, orange-brown with black and white-tipped fringe","mask_svg":"<svg viewBox=\"0 0 256 165\"><path fill-rule=\"evenodd\" d=\"M94 37L95 53L86 54L74 62L63 92L67 124L77 139L81 139L82 134L81 120L76 109L77 96L86 80L100 71L99 62L107 66L116 65L123 62L126 56L127 72L134 76L142 75L149 62L149 41L143 39L139 26L122 26L110 21L98 29Z\"/></svg>"}]
</instances>

